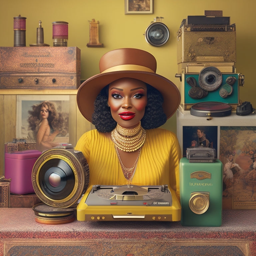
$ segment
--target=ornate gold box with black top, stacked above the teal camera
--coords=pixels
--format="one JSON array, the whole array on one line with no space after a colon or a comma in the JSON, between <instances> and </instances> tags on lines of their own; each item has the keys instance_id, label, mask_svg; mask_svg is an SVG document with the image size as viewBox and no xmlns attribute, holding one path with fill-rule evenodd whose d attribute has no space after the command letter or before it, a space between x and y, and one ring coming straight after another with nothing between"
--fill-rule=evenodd
<instances>
[{"instance_id":1,"label":"ornate gold box with black top, stacked above the teal camera","mask_svg":"<svg viewBox=\"0 0 256 256\"><path fill-rule=\"evenodd\" d=\"M230 17L188 16L182 21L177 63L187 62L236 62L236 26L230 25Z\"/></svg>"}]
</instances>

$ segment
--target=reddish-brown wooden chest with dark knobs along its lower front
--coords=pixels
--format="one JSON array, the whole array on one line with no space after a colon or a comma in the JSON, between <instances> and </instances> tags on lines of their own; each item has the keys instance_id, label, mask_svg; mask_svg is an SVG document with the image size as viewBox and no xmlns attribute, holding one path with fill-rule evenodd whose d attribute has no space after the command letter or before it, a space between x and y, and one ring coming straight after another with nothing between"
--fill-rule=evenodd
<instances>
[{"instance_id":1,"label":"reddish-brown wooden chest with dark knobs along its lower front","mask_svg":"<svg viewBox=\"0 0 256 256\"><path fill-rule=\"evenodd\" d=\"M80 62L77 47L0 47L0 88L76 89Z\"/></svg>"}]
</instances>

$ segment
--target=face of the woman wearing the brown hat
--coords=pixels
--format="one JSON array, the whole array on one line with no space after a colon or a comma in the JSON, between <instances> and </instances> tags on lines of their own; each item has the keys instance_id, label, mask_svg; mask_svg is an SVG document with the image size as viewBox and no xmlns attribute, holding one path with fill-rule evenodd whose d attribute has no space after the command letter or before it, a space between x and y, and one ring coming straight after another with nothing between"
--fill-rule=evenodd
<instances>
[{"instance_id":1,"label":"face of the woman wearing the brown hat","mask_svg":"<svg viewBox=\"0 0 256 256\"><path fill-rule=\"evenodd\" d=\"M121 78L109 85L108 105L113 119L122 127L134 128L145 113L147 86L133 78Z\"/></svg>"}]
</instances>

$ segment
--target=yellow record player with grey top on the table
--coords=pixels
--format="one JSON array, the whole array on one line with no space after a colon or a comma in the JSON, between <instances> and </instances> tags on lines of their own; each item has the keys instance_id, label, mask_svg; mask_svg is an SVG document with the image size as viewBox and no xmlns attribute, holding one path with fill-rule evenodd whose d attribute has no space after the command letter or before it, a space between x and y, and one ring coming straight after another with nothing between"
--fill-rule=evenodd
<instances>
[{"instance_id":1,"label":"yellow record player with grey top on the table","mask_svg":"<svg viewBox=\"0 0 256 256\"><path fill-rule=\"evenodd\" d=\"M181 206L167 185L92 185L77 206L79 221L180 221Z\"/></svg>"}]
</instances>

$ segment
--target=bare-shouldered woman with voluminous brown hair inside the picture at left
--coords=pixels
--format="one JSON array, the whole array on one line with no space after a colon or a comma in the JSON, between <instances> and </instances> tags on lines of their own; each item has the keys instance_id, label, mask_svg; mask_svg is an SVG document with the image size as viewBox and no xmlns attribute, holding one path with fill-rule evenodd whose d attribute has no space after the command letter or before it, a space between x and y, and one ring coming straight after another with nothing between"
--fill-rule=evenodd
<instances>
[{"instance_id":1,"label":"bare-shouldered woman with voluminous brown hair inside the picture at left","mask_svg":"<svg viewBox=\"0 0 256 256\"><path fill-rule=\"evenodd\" d=\"M29 111L29 128L34 132L36 138L36 149L44 151L57 146L55 137L60 133L63 119L58 114L53 102L44 101L39 105L32 106Z\"/></svg>"}]
</instances>

